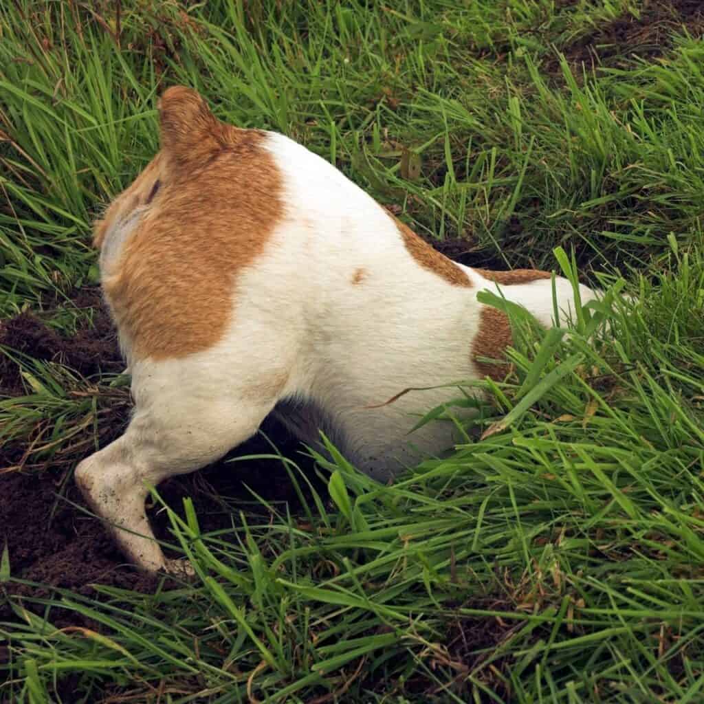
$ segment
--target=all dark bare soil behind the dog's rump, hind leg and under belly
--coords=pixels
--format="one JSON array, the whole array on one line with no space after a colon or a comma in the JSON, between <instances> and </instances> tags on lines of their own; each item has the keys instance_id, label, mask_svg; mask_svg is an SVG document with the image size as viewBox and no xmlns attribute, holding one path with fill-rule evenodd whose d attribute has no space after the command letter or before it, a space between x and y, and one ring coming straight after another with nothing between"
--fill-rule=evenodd
<instances>
[{"instance_id":1,"label":"all dark bare soil behind the dog's rump, hind leg and under belly","mask_svg":"<svg viewBox=\"0 0 704 704\"><path fill-rule=\"evenodd\" d=\"M0 345L10 348L11 354L24 353L60 362L83 377L122 370L115 331L96 289L82 291L75 296L74 303L79 308L94 308L92 327L86 325L69 339L47 327L37 315L22 313L0 322ZM26 393L18 365L0 353L0 396ZM129 413L127 398L120 391L114 400L109 396L107 401L101 399L108 405L106 415L99 419L101 446L125 427ZM253 501L248 486L270 503L288 503L295 512L298 496L279 460L227 463L235 456L272 454L265 434L285 456L310 470L308 477L315 482L311 460L303 455L298 441L273 419L267 419L261 431L216 465L168 479L159 486L161 497L171 508L182 512L182 499L190 496L204 532L232 527L230 510L222 498ZM94 583L137 591L156 588L156 579L125 564L125 558L101 522L87 515L84 509L73 483L73 466L90 451L89 443L68 448L63 455L58 453L61 460L52 458L47 465L32 458L26 440L0 447L0 550L7 543L13 578L45 585L39 588L11 583L8 593L44 597L51 587L59 587L88 595ZM324 492L322 482L317 484L318 490ZM153 508L150 515L156 536L172 542L165 512ZM0 591L0 621L9 616L10 610ZM75 624L75 615L70 618Z\"/></svg>"}]
</instances>

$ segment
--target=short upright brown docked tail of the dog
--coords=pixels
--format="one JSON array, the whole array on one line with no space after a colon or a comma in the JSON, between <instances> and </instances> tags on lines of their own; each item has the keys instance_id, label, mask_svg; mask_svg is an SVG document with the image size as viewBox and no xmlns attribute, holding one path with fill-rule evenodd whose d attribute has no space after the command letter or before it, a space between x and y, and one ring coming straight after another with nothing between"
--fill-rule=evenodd
<instances>
[{"instance_id":1,"label":"short upright brown docked tail of the dog","mask_svg":"<svg viewBox=\"0 0 704 704\"><path fill-rule=\"evenodd\" d=\"M223 125L198 92L172 86L158 103L161 148L172 168L202 164L222 148Z\"/></svg>"}]
</instances>

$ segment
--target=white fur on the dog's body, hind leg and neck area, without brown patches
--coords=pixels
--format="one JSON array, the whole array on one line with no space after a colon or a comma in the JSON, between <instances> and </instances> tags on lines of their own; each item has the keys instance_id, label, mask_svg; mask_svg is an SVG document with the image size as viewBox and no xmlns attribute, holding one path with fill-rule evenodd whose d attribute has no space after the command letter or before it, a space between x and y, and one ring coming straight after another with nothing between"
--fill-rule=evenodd
<instances>
[{"instance_id":1,"label":"white fur on the dog's body, hind leg and neck area, without brown patches","mask_svg":"<svg viewBox=\"0 0 704 704\"><path fill-rule=\"evenodd\" d=\"M404 389L479 377L471 353L477 292L497 291L496 284L461 267L474 285L459 287L423 268L389 215L341 172L280 134L266 145L282 172L287 212L239 276L230 329L185 358L132 358L130 427L76 470L94 510L145 570L165 567L144 514L146 484L217 460L272 410L309 444L324 427L353 464L386 481L453 446L451 422L408 432L459 392L413 391L378 405ZM108 232L103 275L118 265L139 217ZM358 271L363 280L353 284ZM558 278L557 292L567 311L569 282ZM501 294L553 324L550 280L504 286ZM594 295L582 287L583 303Z\"/></svg>"}]
</instances>

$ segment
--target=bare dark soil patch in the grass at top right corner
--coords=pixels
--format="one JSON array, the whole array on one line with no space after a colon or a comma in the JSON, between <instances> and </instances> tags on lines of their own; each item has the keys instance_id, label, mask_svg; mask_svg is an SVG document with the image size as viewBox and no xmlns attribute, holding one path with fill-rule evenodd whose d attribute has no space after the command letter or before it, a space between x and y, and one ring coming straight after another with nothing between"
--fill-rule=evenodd
<instances>
[{"instance_id":1,"label":"bare dark soil patch in the grass at top right corner","mask_svg":"<svg viewBox=\"0 0 704 704\"><path fill-rule=\"evenodd\" d=\"M639 56L660 56L672 46L672 34L684 30L692 37L704 35L704 4L701 0L646 0L641 16L624 15L595 28L564 49L565 58L579 69L603 66L614 68ZM548 65L550 73L560 73L558 61ZM579 73L579 71L577 71Z\"/></svg>"}]
</instances>

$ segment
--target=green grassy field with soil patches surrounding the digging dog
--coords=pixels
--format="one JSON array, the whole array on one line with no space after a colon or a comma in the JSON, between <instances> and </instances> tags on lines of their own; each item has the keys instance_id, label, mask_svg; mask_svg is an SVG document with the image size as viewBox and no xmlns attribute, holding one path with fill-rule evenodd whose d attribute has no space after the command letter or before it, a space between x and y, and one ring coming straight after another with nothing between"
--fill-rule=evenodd
<instances>
[{"instance_id":1,"label":"green grassy field with soil patches surrounding the digging dog","mask_svg":"<svg viewBox=\"0 0 704 704\"><path fill-rule=\"evenodd\" d=\"M2 4L0 701L704 701L696 6ZM71 472L129 403L86 297L91 221L153 156L175 83L302 142L464 263L555 269L634 302L567 336L511 313L513 371L480 384L491 403L450 458L381 486L334 450L272 449L291 501L270 479L212 511L155 498L194 582L115 567L76 589L27 572L18 541L34 485L46 541L58 513L67 534L96 524ZM614 336L589 341L604 317ZM263 461L220 474L232 486Z\"/></svg>"}]
</instances>

